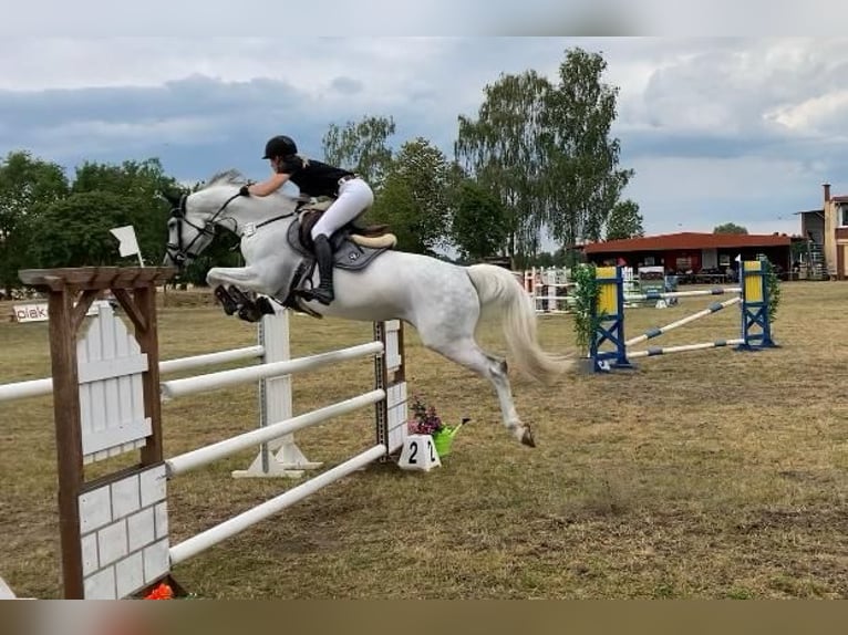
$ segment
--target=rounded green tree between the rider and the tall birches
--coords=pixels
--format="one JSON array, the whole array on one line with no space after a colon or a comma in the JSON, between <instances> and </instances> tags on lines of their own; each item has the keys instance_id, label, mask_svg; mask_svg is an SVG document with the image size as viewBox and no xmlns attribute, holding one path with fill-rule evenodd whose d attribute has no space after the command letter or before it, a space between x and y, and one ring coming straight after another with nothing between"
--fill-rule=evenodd
<instances>
[{"instance_id":1,"label":"rounded green tree between the rider and the tall birches","mask_svg":"<svg viewBox=\"0 0 848 635\"><path fill-rule=\"evenodd\" d=\"M433 253L449 236L452 176L442 150L422 137L406 142L389 167L369 218L391 225L402 249Z\"/></svg>"}]
</instances>

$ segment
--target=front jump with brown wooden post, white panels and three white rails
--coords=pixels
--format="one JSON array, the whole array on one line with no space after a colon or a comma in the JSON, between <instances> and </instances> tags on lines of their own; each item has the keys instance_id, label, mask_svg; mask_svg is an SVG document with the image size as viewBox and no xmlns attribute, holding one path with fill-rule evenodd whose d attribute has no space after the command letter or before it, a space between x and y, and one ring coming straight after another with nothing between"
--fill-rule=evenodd
<instances>
[{"instance_id":1,"label":"front jump with brown wooden post, white panels and three white rails","mask_svg":"<svg viewBox=\"0 0 848 635\"><path fill-rule=\"evenodd\" d=\"M300 360L159 381L156 287L166 268L27 270L21 280L48 293L52 393L59 462L59 516L65 598L137 596L173 580L172 566L227 540L321 488L387 460L406 435L402 324L374 324L374 342ZM111 290L134 326L130 334L111 309L101 308L77 341L85 312ZM374 356L374 389L238 435L170 459L164 458L162 400L257 379L270 381L340 360ZM30 388L32 389L32 388ZM41 387L43 389L43 386ZM167 482L235 452L268 444L308 426L375 407L375 439L353 457L285 493L182 543L170 544ZM139 452L139 462L86 480L84 465Z\"/></svg>"}]
</instances>

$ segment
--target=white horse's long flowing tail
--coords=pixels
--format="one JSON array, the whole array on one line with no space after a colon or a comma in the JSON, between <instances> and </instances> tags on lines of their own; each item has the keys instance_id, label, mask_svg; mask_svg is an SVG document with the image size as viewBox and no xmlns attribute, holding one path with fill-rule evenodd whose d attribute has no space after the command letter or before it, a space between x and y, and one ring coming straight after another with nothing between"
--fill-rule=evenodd
<instances>
[{"instance_id":1,"label":"white horse's long flowing tail","mask_svg":"<svg viewBox=\"0 0 848 635\"><path fill-rule=\"evenodd\" d=\"M510 271L494 264L473 264L467 271L477 289L482 318L500 316L510 361L518 371L547 383L573 367L572 356L555 355L539 345L532 299Z\"/></svg>"}]
</instances>

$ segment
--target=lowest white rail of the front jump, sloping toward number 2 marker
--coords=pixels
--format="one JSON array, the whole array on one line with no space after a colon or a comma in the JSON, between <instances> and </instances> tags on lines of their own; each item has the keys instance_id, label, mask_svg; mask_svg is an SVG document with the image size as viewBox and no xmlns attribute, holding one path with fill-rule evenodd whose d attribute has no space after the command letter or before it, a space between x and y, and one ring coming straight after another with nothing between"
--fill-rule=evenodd
<instances>
[{"instance_id":1,"label":"lowest white rail of the front jump, sloping toward number 2 marker","mask_svg":"<svg viewBox=\"0 0 848 635\"><path fill-rule=\"evenodd\" d=\"M188 560L189 558L197 555L206 551L207 549L215 546L219 542L232 538L249 527L261 522L267 518L282 511L287 507L291 507L296 502L304 499L306 497L317 492L321 488L348 476L351 472L356 471L360 468L375 461L386 452L385 446L382 444L374 446L373 448L365 450L364 452L356 455L355 457L348 459L341 465L335 466L325 472L309 479L302 485L299 485L280 496L272 498L269 501L263 502L252 509L249 509L239 516L236 516L229 520L224 521L220 524L207 529L206 531L194 535L179 544L175 544L170 548L170 564L179 564L180 562Z\"/></svg>"}]
</instances>

